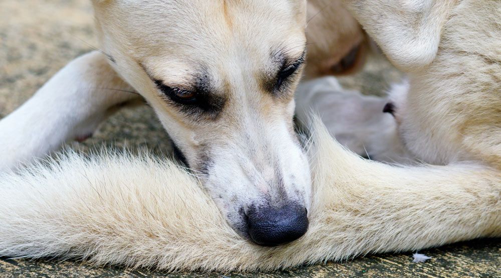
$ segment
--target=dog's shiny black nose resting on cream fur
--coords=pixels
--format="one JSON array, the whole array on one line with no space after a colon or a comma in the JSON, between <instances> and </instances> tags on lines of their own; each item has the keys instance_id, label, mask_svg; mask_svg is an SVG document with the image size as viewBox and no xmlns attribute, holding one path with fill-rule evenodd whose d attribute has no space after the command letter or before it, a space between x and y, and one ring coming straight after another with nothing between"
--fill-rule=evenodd
<instances>
[{"instance_id":1,"label":"dog's shiny black nose resting on cream fur","mask_svg":"<svg viewBox=\"0 0 501 278\"><path fill-rule=\"evenodd\" d=\"M307 210L300 205L250 209L247 217L250 239L264 246L291 242L308 229Z\"/></svg>"}]
</instances>

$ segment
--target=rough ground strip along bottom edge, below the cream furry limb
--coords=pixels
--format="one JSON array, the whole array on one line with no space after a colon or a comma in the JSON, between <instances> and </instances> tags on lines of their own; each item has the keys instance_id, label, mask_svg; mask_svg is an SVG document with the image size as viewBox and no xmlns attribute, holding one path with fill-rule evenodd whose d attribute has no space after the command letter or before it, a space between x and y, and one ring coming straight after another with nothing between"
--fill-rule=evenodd
<instances>
[{"instance_id":1,"label":"rough ground strip along bottom edge, below the cream furry limb","mask_svg":"<svg viewBox=\"0 0 501 278\"><path fill-rule=\"evenodd\" d=\"M412 262L412 253L380 254L264 273L166 273L147 269L93 267L81 262L0 259L2 277L500 277L501 239L480 239L421 250L432 258Z\"/></svg>"}]
</instances>

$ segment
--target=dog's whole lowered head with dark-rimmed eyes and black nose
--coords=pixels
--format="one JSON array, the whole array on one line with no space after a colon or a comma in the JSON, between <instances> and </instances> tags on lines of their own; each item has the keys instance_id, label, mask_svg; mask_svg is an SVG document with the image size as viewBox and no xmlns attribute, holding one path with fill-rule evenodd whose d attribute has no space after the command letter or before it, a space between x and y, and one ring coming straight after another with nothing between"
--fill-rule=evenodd
<instances>
[{"instance_id":1,"label":"dog's whole lowered head with dark-rimmed eyes and black nose","mask_svg":"<svg viewBox=\"0 0 501 278\"><path fill-rule=\"evenodd\" d=\"M154 108L229 224L258 244L306 232L293 126L306 0L95 0L101 47Z\"/></svg>"}]
</instances>

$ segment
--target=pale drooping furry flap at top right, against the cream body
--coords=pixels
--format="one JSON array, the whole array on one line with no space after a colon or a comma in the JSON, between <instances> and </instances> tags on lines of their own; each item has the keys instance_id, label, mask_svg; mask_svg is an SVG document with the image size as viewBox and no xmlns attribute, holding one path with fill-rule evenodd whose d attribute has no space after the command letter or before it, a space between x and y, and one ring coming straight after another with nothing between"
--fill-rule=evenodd
<instances>
[{"instance_id":1,"label":"pale drooping furry flap at top right, against the cream body","mask_svg":"<svg viewBox=\"0 0 501 278\"><path fill-rule=\"evenodd\" d=\"M343 0L391 62L415 71L435 58L458 0Z\"/></svg>"}]
</instances>

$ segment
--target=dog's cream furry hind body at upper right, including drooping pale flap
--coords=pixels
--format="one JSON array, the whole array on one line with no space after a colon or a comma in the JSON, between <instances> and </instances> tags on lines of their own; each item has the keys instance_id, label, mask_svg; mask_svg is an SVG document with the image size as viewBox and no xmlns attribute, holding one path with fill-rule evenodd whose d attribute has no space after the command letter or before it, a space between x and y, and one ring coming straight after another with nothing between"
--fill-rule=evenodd
<instances>
[{"instance_id":1,"label":"dog's cream furry hind body at upper right, including drooping pale flap","mask_svg":"<svg viewBox=\"0 0 501 278\"><path fill-rule=\"evenodd\" d=\"M390 94L405 148L432 164L501 167L501 3L344 2L409 73L408 91Z\"/></svg>"}]
</instances>

